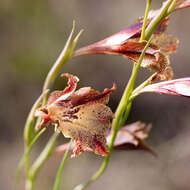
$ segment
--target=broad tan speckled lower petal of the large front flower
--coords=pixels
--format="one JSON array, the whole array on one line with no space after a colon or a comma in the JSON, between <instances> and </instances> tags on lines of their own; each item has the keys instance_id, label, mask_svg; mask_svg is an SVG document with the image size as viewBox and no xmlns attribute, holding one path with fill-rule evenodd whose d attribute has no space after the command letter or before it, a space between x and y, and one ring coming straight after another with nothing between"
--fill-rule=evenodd
<instances>
[{"instance_id":1,"label":"broad tan speckled lower petal of the large front flower","mask_svg":"<svg viewBox=\"0 0 190 190\"><path fill-rule=\"evenodd\" d=\"M113 113L104 104L94 103L75 107L78 110L75 118L64 117L60 121L60 128L66 137L75 142L74 155L91 149L97 154L106 155L106 134L110 128Z\"/></svg>"}]
</instances>

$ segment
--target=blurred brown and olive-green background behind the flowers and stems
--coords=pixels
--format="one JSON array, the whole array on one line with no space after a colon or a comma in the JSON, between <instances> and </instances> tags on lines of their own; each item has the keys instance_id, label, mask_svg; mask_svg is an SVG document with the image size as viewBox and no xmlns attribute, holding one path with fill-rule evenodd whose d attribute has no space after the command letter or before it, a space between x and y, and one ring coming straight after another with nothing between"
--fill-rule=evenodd
<instances>
[{"instance_id":1,"label":"blurred brown and olive-green background behind the flowers and stems","mask_svg":"<svg viewBox=\"0 0 190 190\"><path fill-rule=\"evenodd\" d=\"M161 6L160 0L152 2ZM144 15L145 1L139 0L1 0L0 2L0 189L13 188L15 170L23 153L23 126L27 114L41 93L52 64L58 57L76 21L84 29L78 46L104 39ZM174 77L190 73L190 9L176 12L168 32L180 40L179 50L171 56ZM124 90L132 64L119 56L78 57L64 65L62 72L80 78L78 87L103 90L115 81L117 91L109 105L114 111ZM140 70L137 83L150 73ZM54 89L63 89L58 79ZM144 94L135 99L128 123L152 123L147 140L158 153L154 158L142 151L114 152L105 174L88 189L110 190L189 190L190 189L190 103L189 99ZM32 151L35 158L53 133L49 128ZM65 142L60 137L58 144ZM51 190L62 155L53 155L41 169L38 190ZM70 190L86 181L103 158L85 153L70 159L63 174L63 189ZM22 181L20 189L24 189Z\"/></svg>"}]
</instances>

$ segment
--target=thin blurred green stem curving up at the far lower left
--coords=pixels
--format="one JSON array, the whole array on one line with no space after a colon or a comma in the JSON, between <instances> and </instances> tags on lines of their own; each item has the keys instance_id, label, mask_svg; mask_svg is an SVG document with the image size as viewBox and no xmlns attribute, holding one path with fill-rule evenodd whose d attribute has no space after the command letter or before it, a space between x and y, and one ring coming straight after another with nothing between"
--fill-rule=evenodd
<instances>
[{"instance_id":1,"label":"thin blurred green stem curving up at the far lower left","mask_svg":"<svg viewBox=\"0 0 190 190\"><path fill-rule=\"evenodd\" d=\"M20 172L21 172L21 169L24 165L24 162L28 158L28 155L29 155L33 145L36 143L38 138L45 132L45 130L46 130L46 128L43 128L41 131L39 131L38 134L32 139L31 143L26 148L24 155L22 156L22 158L18 164L18 167L17 167L16 177L15 177L15 190L16 190L16 187L17 187L19 180L20 180Z\"/></svg>"}]
</instances>

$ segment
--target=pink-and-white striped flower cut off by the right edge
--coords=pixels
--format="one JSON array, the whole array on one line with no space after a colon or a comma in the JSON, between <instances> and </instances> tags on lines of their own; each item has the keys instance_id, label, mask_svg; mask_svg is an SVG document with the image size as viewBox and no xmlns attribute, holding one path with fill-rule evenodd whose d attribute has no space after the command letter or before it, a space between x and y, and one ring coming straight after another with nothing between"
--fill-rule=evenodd
<instances>
[{"instance_id":1,"label":"pink-and-white striped flower cut off by the right edge","mask_svg":"<svg viewBox=\"0 0 190 190\"><path fill-rule=\"evenodd\" d=\"M190 97L190 78L180 78L151 84L141 89L137 94L144 92Z\"/></svg>"}]
</instances>

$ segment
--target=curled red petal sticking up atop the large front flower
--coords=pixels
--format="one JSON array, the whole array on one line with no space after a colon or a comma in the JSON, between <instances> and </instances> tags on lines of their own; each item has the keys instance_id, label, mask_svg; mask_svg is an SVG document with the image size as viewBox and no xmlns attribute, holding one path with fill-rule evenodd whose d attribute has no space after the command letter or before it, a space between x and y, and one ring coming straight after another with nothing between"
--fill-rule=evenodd
<instances>
[{"instance_id":1,"label":"curled red petal sticking up atop the large front flower","mask_svg":"<svg viewBox=\"0 0 190 190\"><path fill-rule=\"evenodd\" d=\"M75 91L77 87L77 83L79 82L78 77L73 76L68 73L63 73L61 76L68 78L68 82L67 82L68 86L62 91L52 92L48 98L47 105L50 105L52 103L56 103L62 100L66 100L69 96L73 94L73 92Z\"/></svg>"}]
</instances>

